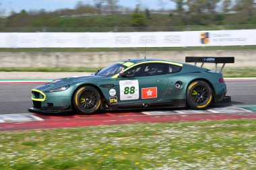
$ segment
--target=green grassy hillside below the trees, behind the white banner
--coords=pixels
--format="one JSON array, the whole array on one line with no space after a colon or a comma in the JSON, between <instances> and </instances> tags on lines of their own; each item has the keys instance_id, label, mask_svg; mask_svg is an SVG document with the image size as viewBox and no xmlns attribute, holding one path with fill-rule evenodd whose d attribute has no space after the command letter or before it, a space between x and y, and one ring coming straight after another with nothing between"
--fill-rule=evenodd
<instances>
[{"instance_id":1,"label":"green grassy hillside below the trees, behind the white banner","mask_svg":"<svg viewBox=\"0 0 256 170\"><path fill-rule=\"evenodd\" d=\"M69 11L67 11L69 13ZM84 13L79 11L75 13ZM94 11L95 12L95 11ZM93 11L89 13L94 13ZM241 21L235 14L218 14L216 19L211 19L210 13L203 13L197 16L197 21L189 19L189 15L184 21L184 16L169 15L160 13L151 13L150 19L146 18L142 12L146 27L132 27L132 15L91 15L91 16L65 16L67 13L48 13L36 15L36 13L14 14L6 19L0 18L3 32L35 32L42 31L46 27L47 32L113 32L113 27L119 27L118 32L135 31L185 31L185 30L235 30L235 29L253 29L255 25L255 15L253 17L245 16ZM69 13L68 15L70 15ZM242 15L243 16L243 15ZM199 22L200 20L200 22ZM222 25L228 24L228 25Z\"/></svg>"}]
</instances>

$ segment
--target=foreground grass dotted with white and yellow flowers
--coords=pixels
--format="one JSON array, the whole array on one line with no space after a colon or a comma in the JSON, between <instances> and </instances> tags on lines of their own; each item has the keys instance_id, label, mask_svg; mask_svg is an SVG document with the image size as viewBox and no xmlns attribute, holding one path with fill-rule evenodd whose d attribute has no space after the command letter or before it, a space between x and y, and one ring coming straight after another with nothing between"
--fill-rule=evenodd
<instances>
[{"instance_id":1,"label":"foreground grass dotted with white and yellow flowers","mask_svg":"<svg viewBox=\"0 0 256 170\"><path fill-rule=\"evenodd\" d=\"M256 120L0 132L0 169L256 169Z\"/></svg>"}]
</instances>

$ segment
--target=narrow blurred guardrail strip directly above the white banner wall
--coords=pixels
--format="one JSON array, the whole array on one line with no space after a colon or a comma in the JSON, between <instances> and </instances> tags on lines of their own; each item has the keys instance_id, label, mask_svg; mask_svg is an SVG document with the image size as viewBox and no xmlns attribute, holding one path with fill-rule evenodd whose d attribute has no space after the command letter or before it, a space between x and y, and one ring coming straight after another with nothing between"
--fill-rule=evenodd
<instances>
[{"instance_id":1,"label":"narrow blurred guardrail strip directly above the white banner wall","mask_svg":"<svg viewBox=\"0 0 256 170\"><path fill-rule=\"evenodd\" d=\"M207 30L250 30L256 24L221 26L84 27L84 28L0 28L0 32L181 32Z\"/></svg>"}]
</instances>

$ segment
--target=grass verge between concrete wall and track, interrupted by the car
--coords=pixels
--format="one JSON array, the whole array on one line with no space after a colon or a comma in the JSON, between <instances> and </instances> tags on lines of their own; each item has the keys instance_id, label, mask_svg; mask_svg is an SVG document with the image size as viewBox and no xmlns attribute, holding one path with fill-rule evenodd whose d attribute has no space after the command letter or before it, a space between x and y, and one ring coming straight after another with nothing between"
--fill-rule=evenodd
<instances>
[{"instance_id":1,"label":"grass verge between concrete wall and track, interrupted by the car","mask_svg":"<svg viewBox=\"0 0 256 170\"><path fill-rule=\"evenodd\" d=\"M96 72L92 67L0 67L0 72ZM226 67L224 77L256 77L256 67Z\"/></svg>"}]
</instances>

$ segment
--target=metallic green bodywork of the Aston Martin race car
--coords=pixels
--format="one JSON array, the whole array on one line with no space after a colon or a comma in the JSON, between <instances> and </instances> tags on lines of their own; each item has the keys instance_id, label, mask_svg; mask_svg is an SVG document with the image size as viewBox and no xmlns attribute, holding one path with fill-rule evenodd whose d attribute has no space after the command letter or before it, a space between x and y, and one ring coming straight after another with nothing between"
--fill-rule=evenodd
<instances>
[{"instance_id":1,"label":"metallic green bodywork of the Aston Martin race car","mask_svg":"<svg viewBox=\"0 0 256 170\"><path fill-rule=\"evenodd\" d=\"M129 62L127 64L127 62ZM132 62L133 64L131 64ZM119 62L119 64L127 65L125 71L129 68L134 67L135 65L140 65L145 62L158 62L158 63L167 63L170 65L181 66L182 69L178 73L168 73L165 75L153 75L148 77L120 77L118 75L106 77L100 75L90 75L84 77L68 77L65 79L59 79L59 81L52 81L44 85L40 85L35 89L42 91L46 95L46 99L41 102L42 107L46 107L47 103L53 103L54 106L71 106L72 95L78 87L84 85L93 85L96 87L102 97L106 99L107 104L109 104L110 97L117 97L117 105L127 104L127 103L144 103L148 101L166 101L172 99L186 99L186 91L189 84L196 79L204 79L208 81L216 95L225 95L226 94L226 84L220 83L219 79L222 77L221 73L215 73L214 71L206 70L200 67L195 67L193 65L187 65L185 63L172 62L168 60L126 60ZM126 63L126 64L124 64ZM121 100L121 89L120 81L127 80L137 80L139 83L139 93L138 99L131 100ZM177 89L175 83L177 81L182 82L182 87ZM47 93L46 91L54 87L61 87L64 85L70 85L69 89L65 91ZM102 85L114 85L113 87L102 87ZM146 87L157 87L157 97L142 99L141 89ZM115 89L116 94L111 96L110 89ZM123 92L122 92L123 93ZM196 92L193 92L193 95L196 95Z\"/></svg>"}]
</instances>

